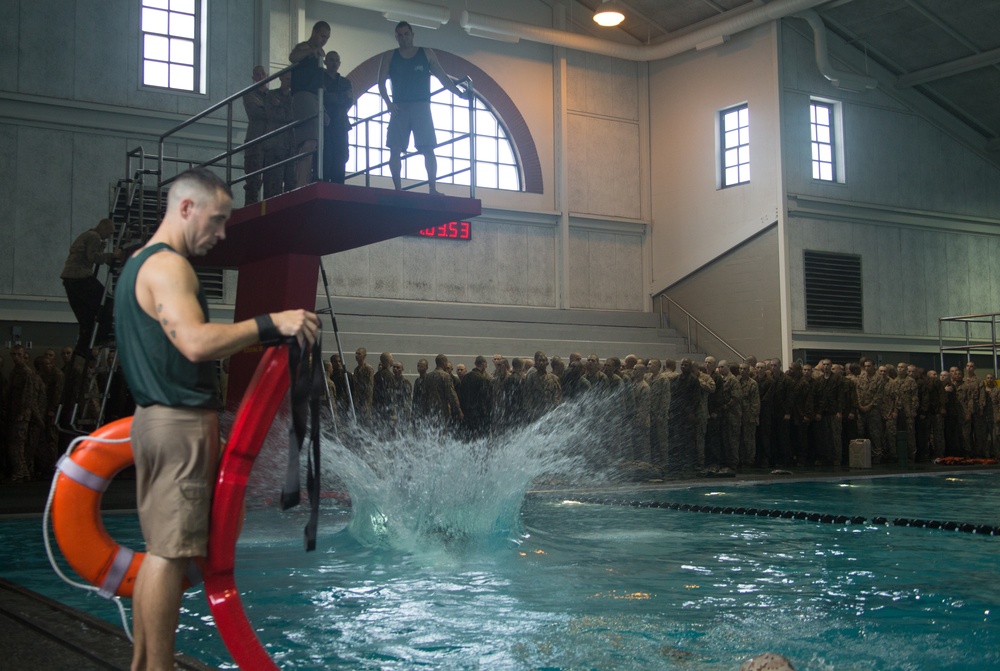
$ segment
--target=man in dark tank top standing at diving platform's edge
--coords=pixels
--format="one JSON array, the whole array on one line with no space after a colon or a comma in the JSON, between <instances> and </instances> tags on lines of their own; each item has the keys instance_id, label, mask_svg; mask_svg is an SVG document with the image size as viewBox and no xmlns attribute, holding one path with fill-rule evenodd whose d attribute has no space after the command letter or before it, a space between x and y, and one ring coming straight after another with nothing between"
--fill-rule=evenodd
<instances>
[{"instance_id":1,"label":"man in dark tank top standing at diving platform's edge","mask_svg":"<svg viewBox=\"0 0 1000 671\"><path fill-rule=\"evenodd\" d=\"M396 24L396 42L398 49L382 54L378 73L379 95L390 112L386 145L392 184L397 191L402 188L402 154L410 146L410 133L413 133L413 144L424 155L428 191L437 193L437 158L434 156L437 136L431 118L431 74L459 98L468 98L471 94L458 88L433 51L413 46L413 27L406 21ZM386 81L392 82L391 99Z\"/></svg>"}]
</instances>

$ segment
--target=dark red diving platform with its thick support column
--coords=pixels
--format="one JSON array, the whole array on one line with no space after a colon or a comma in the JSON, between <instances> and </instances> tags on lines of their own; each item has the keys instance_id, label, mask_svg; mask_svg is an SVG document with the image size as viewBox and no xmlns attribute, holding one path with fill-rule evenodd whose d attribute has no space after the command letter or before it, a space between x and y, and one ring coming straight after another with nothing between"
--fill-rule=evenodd
<instances>
[{"instance_id":1,"label":"dark red diving platform with its thick support column","mask_svg":"<svg viewBox=\"0 0 1000 671\"><path fill-rule=\"evenodd\" d=\"M481 213L475 198L316 182L234 210L226 239L192 262L239 269L236 321L262 312L313 310L321 257ZM232 357L230 408L239 404L262 353L256 346Z\"/></svg>"}]
</instances>

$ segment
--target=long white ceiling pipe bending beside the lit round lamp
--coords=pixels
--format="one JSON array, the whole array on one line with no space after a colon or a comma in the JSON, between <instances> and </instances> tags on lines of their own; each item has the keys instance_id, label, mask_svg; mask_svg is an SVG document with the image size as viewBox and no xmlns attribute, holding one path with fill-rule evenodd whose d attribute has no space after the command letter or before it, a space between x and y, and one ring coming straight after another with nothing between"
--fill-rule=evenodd
<instances>
[{"instance_id":1,"label":"long white ceiling pipe bending beside the lit round lamp","mask_svg":"<svg viewBox=\"0 0 1000 671\"><path fill-rule=\"evenodd\" d=\"M527 23L509 21L469 11L462 12L461 24L469 34L478 34L481 36L493 34L497 36L497 39L508 41L509 38L516 37L531 42L587 51L629 61L658 61L676 56L685 51L690 51L699 44L703 45L712 40L718 40L720 37L724 38L770 21L776 21L786 16L804 12L827 1L773 0L773 2L769 2L766 5L754 7L736 16L723 18L717 23L668 39L666 42L648 46L621 44L588 35L533 26Z\"/></svg>"}]
</instances>

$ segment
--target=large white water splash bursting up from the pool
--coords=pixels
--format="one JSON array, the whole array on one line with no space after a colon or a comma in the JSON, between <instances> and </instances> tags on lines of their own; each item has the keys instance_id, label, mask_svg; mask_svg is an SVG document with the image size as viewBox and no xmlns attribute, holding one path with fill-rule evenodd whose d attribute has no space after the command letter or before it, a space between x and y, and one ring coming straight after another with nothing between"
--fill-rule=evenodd
<instances>
[{"instance_id":1,"label":"large white water splash bursting up from the pool","mask_svg":"<svg viewBox=\"0 0 1000 671\"><path fill-rule=\"evenodd\" d=\"M521 504L540 480L580 484L604 480L613 458L615 397L593 395L565 403L538 421L502 435L462 440L449 430L352 426L323 436L323 487L346 489L353 516L349 531L369 546L406 553L489 551L520 542ZM284 423L276 420L276 426ZM509 422L498 422L509 425ZM273 499L284 454L270 443L251 483Z\"/></svg>"}]
</instances>

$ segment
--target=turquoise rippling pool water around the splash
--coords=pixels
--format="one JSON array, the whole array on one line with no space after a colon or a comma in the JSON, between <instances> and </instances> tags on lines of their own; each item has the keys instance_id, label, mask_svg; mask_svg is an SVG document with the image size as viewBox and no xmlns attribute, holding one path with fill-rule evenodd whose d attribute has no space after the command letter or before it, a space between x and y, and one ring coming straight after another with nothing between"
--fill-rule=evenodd
<instances>
[{"instance_id":1,"label":"turquoise rippling pool water around the splash","mask_svg":"<svg viewBox=\"0 0 1000 671\"><path fill-rule=\"evenodd\" d=\"M613 496L1000 524L997 471ZM362 544L350 510L328 501L308 554L306 511L254 510L237 584L283 669L734 670L768 650L797 669L1000 669L1000 537L580 500L532 494L516 534L405 550ZM132 516L106 523L141 547ZM4 577L117 622L58 581L38 518L0 528ZM200 589L178 647L234 668Z\"/></svg>"}]
</instances>

